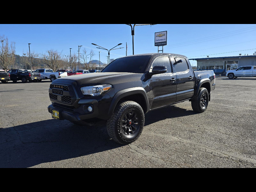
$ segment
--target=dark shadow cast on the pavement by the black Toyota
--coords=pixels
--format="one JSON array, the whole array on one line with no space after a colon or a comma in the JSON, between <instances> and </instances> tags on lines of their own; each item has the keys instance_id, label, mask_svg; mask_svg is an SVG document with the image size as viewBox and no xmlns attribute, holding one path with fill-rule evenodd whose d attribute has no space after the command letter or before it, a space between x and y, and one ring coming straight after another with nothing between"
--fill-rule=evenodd
<instances>
[{"instance_id":1,"label":"dark shadow cast on the pavement by the black Toyota","mask_svg":"<svg viewBox=\"0 0 256 192\"><path fill-rule=\"evenodd\" d=\"M170 106L146 114L145 126L166 118L193 114L196 113ZM66 120L50 119L0 127L0 168L41 167L43 163L68 160L121 146L110 139L106 126L78 126ZM58 163L52 167L59 167Z\"/></svg>"}]
</instances>

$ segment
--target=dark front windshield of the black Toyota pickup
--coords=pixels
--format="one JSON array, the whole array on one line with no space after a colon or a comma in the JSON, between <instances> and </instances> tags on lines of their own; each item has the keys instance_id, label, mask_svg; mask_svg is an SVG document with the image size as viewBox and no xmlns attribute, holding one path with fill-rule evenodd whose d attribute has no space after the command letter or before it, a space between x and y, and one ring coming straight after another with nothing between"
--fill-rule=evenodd
<instances>
[{"instance_id":1,"label":"dark front windshield of the black Toyota pickup","mask_svg":"<svg viewBox=\"0 0 256 192\"><path fill-rule=\"evenodd\" d=\"M150 57L150 55L143 55L118 58L106 66L102 72L144 73Z\"/></svg>"}]
</instances>

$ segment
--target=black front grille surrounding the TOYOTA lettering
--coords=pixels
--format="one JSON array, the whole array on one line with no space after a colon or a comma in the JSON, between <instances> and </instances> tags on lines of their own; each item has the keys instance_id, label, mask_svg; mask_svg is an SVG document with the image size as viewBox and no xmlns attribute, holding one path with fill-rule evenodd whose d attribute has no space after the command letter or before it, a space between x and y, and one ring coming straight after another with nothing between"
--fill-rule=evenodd
<instances>
[{"instance_id":1,"label":"black front grille surrounding the TOYOTA lettering","mask_svg":"<svg viewBox=\"0 0 256 192\"><path fill-rule=\"evenodd\" d=\"M58 95L58 94L54 94L52 92L52 88L55 88L57 90L63 90L63 95ZM72 89L72 88L70 88ZM64 102L66 104L71 104L72 103L72 95L70 95L70 90L68 88L68 86L64 86L64 85L58 85L58 84L50 84L50 89L49 89L49 97L52 100L56 100L58 102ZM74 102L74 101L73 101Z\"/></svg>"}]
</instances>

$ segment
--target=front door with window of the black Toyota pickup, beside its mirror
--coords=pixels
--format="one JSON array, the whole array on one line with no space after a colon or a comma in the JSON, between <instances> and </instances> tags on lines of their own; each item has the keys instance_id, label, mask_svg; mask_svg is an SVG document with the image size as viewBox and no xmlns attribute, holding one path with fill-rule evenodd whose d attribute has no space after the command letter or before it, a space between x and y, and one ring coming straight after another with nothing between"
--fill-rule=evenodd
<instances>
[{"instance_id":1,"label":"front door with window of the black Toyota pickup, beside its mirror","mask_svg":"<svg viewBox=\"0 0 256 192\"><path fill-rule=\"evenodd\" d=\"M153 75L149 81L151 109L176 102L176 75L173 73L169 56L160 56L152 61L154 66L166 66L167 72Z\"/></svg>"}]
</instances>

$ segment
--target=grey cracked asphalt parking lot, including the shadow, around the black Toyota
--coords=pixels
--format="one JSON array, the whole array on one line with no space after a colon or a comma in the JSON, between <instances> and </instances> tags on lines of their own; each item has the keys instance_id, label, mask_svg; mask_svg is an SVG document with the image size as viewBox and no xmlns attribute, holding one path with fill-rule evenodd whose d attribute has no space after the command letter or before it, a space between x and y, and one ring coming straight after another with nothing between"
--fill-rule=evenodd
<instances>
[{"instance_id":1,"label":"grey cracked asphalt parking lot, including the shadow, around the black Toyota","mask_svg":"<svg viewBox=\"0 0 256 192\"><path fill-rule=\"evenodd\" d=\"M202 114L188 101L149 112L126 146L106 126L52 119L50 83L0 82L0 168L256 167L256 78L216 78Z\"/></svg>"}]
</instances>

